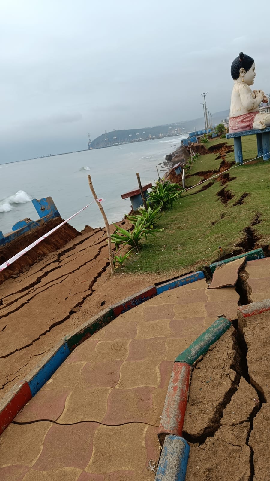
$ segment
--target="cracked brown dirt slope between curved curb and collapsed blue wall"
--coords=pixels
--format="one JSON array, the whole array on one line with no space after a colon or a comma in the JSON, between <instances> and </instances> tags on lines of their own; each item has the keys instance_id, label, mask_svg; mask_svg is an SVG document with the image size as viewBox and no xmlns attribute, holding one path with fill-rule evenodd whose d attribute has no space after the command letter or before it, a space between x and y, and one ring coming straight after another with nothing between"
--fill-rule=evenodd
<instances>
[{"instance_id":1,"label":"cracked brown dirt slope between curved curb and collapsed blue wall","mask_svg":"<svg viewBox=\"0 0 270 481\"><path fill-rule=\"evenodd\" d=\"M0 285L0 398L37 365L39 356L91 316L166 280L162 275L111 276L108 266L106 232L98 228Z\"/></svg>"}]
</instances>

